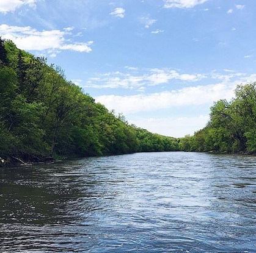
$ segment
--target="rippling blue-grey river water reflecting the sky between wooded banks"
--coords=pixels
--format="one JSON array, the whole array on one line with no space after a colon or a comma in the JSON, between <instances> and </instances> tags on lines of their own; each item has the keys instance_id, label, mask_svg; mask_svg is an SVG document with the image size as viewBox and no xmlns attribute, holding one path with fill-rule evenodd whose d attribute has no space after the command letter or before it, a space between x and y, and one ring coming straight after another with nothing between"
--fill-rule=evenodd
<instances>
[{"instance_id":1,"label":"rippling blue-grey river water reflecting the sky between wooded banks","mask_svg":"<svg viewBox=\"0 0 256 253\"><path fill-rule=\"evenodd\" d=\"M159 152L0 169L0 252L256 252L256 157Z\"/></svg>"}]
</instances>

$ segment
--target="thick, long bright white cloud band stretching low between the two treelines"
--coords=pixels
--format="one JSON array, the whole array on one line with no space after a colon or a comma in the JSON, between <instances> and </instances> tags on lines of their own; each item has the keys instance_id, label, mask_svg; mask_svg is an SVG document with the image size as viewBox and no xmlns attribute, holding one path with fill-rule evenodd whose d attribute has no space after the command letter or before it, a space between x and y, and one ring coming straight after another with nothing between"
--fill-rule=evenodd
<instances>
[{"instance_id":1,"label":"thick, long bright white cloud band stretching low between the two treelines","mask_svg":"<svg viewBox=\"0 0 256 253\"><path fill-rule=\"evenodd\" d=\"M212 104L219 99L231 99L236 83L221 82L211 85L185 87L160 93L137 94L133 96L103 95L95 98L109 110L138 113L153 112L181 106Z\"/></svg>"}]
</instances>

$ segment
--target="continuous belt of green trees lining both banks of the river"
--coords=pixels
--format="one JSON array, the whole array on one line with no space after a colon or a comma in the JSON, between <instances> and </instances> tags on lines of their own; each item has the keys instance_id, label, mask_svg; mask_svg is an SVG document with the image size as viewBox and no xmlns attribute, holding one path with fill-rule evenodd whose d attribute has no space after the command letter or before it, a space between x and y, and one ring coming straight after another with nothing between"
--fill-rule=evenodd
<instances>
[{"instance_id":1,"label":"continuous belt of green trees lining both banks of the river","mask_svg":"<svg viewBox=\"0 0 256 253\"><path fill-rule=\"evenodd\" d=\"M211 107L203 129L183 138L152 134L66 79L56 65L0 37L0 167L133 152L255 154L256 83Z\"/></svg>"}]
</instances>

